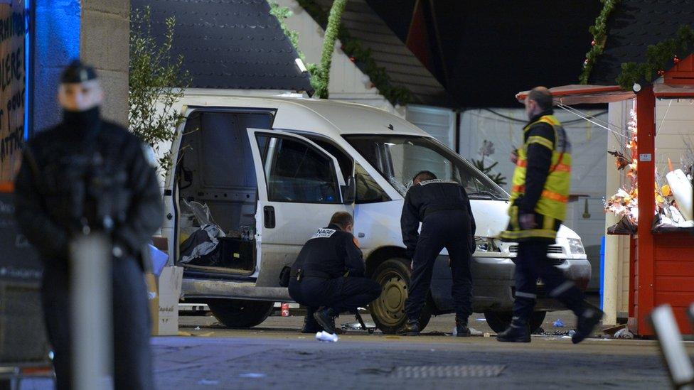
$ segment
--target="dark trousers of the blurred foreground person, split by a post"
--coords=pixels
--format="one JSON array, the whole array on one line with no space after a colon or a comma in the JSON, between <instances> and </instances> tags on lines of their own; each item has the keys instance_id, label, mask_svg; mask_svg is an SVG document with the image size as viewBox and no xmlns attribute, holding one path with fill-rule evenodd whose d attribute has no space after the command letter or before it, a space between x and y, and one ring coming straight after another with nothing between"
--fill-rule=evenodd
<instances>
[{"instance_id":1,"label":"dark trousers of the blurred foreground person, split by a post","mask_svg":"<svg viewBox=\"0 0 694 390\"><path fill-rule=\"evenodd\" d=\"M116 389L154 389L149 350L151 323L142 268L132 257L114 259L112 272L114 386ZM64 263L46 264L41 289L59 390L73 388L68 273Z\"/></svg>"}]
</instances>

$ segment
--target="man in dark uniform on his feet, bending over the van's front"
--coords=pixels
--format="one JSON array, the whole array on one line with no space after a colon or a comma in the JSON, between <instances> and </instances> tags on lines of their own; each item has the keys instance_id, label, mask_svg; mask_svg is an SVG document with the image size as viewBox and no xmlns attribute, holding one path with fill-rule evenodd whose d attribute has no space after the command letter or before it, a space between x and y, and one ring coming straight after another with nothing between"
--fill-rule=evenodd
<instances>
[{"instance_id":1,"label":"man in dark uniform on his feet, bending over the van's front","mask_svg":"<svg viewBox=\"0 0 694 390\"><path fill-rule=\"evenodd\" d=\"M422 233L418 232L422 222ZM475 219L465 189L457 182L439 180L424 170L412 178L412 187L402 206L402 242L412 259L410 295L405 301L407 323L400 334L420 332L420 312L432 283L434 262L442 249L448 249L453 273L453 305L458 337L470 335L467 327L472 314L471 254L474 252Z\"/></svg>"}]
</instances>

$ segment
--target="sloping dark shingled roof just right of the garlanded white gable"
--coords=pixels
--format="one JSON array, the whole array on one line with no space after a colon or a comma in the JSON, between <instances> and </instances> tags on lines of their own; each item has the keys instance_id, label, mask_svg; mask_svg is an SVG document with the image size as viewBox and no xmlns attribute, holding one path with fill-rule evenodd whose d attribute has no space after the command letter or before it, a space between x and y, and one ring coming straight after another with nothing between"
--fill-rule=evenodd
<instances>
[{"instance_id":1,"label":"sloping dark shingled roof just right of the garlanded white gable","mask_svg":"<svg viewBox=\"0 0 694 390\"><path fill-rule=\"evenodd\" d=\"M329 12L333 0L316 0ZM365 0L349 0L342 14L342 25L348 33L371 50L371 58L378 67L385 68L390 82L412 92L415 104L453 107L453 97L427 67L402 43Z\"/></svg>"}]
</instances>

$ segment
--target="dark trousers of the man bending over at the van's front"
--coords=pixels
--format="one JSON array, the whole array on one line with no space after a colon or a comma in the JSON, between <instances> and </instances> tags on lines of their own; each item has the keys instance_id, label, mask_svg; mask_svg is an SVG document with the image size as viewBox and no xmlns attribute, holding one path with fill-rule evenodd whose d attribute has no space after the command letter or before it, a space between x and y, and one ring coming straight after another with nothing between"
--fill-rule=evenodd
<instances>
[{"instance_id":1,"label":"dark trousers of the man bending over at the van's front","mask_svg":"<svg viewBox=\"0 0 694 390\"><path fill-rule=\"evenodd\" d=\"M448 249L453 276L452 297L457 318L472 314L472 275L470 248L470 218L463 210L433 212L422 222L413 259L410 292L405 301L405 313L417 319L427 300L432 282L434 263L442 249Z\"/></svg>"}]
</instances>

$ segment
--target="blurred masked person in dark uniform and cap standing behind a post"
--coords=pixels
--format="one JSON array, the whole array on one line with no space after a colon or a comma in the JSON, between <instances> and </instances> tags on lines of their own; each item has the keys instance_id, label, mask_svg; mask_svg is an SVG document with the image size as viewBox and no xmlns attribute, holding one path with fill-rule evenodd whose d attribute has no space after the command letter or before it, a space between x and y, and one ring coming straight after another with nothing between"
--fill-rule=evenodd
<instances>
[{"instance_id":1,"label":"blurred masked person in dark uniform and cap standing behind a post","mask_svg":"<svg viewBox=\"0 0 694 390\"><path fill-rule=\"evenodd\" d=\"M149 308L141 250L163 220L153 158L137 136L100 118L92 67L65 68L63 121L36 134L16 178L16 218L41 253L42 299L58 389L73 387L70 242L102 232L112 242L116 389L152 389Z\"/></svg>"}]
</instances>

